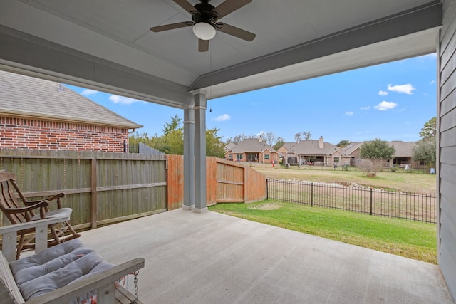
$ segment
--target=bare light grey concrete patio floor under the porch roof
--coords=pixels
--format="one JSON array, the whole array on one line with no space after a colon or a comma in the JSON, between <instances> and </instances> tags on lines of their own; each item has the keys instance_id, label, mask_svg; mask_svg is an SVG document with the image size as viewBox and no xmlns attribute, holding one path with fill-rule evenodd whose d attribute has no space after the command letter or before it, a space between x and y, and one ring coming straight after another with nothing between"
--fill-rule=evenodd
<instances>
[{"instance_id":1,"label":"bare light grey concrete patio floor under the porch roof","mask_svg":"<svg viewBox=\"0 0 456 304\"><path fill-rule=\"evenodd\" d=\"M435 265L211 211L125 221L81 241L112 263L145 258L144 303L453 303Z\"/></svg>"}]
</instances>

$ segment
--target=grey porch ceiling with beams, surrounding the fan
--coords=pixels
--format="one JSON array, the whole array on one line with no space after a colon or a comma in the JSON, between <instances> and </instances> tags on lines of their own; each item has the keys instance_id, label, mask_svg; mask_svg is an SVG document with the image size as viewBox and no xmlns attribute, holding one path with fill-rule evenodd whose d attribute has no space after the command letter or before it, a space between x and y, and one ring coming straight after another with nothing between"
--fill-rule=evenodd
<instances>
[{"instance_id":1,"label":"grey porch ceiling with beams, surrounding the fan","mask_svg":"<svg viewBox=\"0 0 456 304\"><path fill-rule=\"evenodd\" d=\"M189 0L197 4L197 0ZM223 0L212 0L218 6ZM442 4L429 0L253 0L198 52L172 0L2 0L0 68L175 108L435 52Z\"/></svg>"}]
</instances>

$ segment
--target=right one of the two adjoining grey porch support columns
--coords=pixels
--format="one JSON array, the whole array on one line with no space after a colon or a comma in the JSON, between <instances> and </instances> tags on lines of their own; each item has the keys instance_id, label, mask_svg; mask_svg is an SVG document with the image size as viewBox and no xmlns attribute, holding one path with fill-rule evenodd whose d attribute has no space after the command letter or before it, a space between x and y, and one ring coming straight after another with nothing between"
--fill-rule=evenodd
<instances>
[{"instance_id":1,"label":"right one of the two adjoining grey porch support columns","mask_svg":"<svg viewBox=\"0 0 456 304\"><path fill-rule=\"evenodd\" d=\"M195 209L207 212L206 206L206 94L194 92L195 97Z\"/></svg>"}]
</instances>

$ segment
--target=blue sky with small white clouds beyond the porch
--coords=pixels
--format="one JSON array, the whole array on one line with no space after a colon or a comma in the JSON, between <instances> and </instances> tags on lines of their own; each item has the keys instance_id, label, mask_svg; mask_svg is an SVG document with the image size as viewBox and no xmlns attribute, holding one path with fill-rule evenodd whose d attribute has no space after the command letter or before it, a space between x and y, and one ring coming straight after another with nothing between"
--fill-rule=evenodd
<instances>
[{"instance_id":1,"label":"blue sky with small white clouds beyond the porch","mask_svg":"<svg viewBox=\"0 0 456 304\"><path fill-rule=\"evenodd\" d=\"M436 116L435 54L279 85L207 101L207 127L218 135L272 132L293 142L311 132L325 142L420 140ZM183 110L68 85L87 98L144 125L138 132L162 135L166 122ZM212 111L209 111L212 109Z\"/></svg>"}]
</instances>

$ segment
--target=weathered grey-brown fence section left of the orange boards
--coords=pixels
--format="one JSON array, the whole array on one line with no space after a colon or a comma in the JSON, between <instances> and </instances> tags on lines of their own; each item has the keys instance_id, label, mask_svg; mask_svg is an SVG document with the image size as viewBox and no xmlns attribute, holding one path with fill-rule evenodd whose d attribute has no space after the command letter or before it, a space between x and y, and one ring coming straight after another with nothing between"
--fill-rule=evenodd
<instances>
[{"instance_id":1,"label":"weathered grey-brown fence section left of the orange boards","mask_svg":"<svg viewBox=\"0 0 456 304\"><path fill-rule=\"evenodd\" d=\"M166 163L151 154L0 150L0 169L17 175L27 198L66 194L76 229L166 211Z\"/></svg>"}]
</instances>

